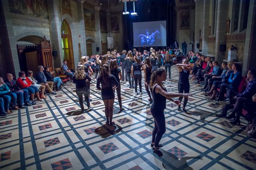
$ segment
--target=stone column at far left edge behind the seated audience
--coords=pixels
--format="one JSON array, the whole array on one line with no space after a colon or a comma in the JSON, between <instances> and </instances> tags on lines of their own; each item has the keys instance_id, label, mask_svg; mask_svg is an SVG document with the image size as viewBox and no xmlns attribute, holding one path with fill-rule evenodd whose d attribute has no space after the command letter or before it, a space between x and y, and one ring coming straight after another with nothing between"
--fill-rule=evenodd
<instances>
[{"instance_id":1,"label":"stone column at far left edge behind the seated audience","mask_svg":"<svg viewBox=\"0 0 256 170\"><path fill-rule=\"evenodd\" d=\"M14 37L14 31L12 26L12 17L9 10L9 4L7 0L0 1L0 38L2 44L2 51L4 55L4 61L6 66L6 72L13 74L14 78L19 76L19 57L16 47L16 40ZM3 75L5 77L5 75Z\"/></svg>"}]
</instances>

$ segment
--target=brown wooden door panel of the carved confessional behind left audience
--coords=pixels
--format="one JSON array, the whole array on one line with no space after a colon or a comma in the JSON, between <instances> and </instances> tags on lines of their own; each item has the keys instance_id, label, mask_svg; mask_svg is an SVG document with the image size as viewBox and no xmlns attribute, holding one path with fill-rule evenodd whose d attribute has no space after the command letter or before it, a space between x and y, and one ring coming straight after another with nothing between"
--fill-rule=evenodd
<instances>
[{"instance_id":1,"label":"brown wooden door panel of the carved confessional behind left audience","mask_svg":"<svg viewBox=\"0 0 256 170\"><path fill-rule=\"evenodd\" d=\"M26 53L26 63L27 63L27 69L33 71L34 75L37 74L38 66L39 66L38 52L33 51L33 52Z\"/></svg>"}]
</instances>

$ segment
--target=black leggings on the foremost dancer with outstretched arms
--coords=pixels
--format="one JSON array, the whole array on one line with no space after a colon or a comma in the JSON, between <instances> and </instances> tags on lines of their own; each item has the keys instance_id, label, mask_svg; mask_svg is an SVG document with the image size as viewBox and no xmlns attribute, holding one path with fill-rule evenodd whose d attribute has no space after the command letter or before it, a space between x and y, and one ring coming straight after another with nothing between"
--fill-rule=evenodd
<instances>
[{"instance_id":1,"label":"black leggings on the foremost dancer with outstretched arms","mask_svg":"<svg viewBox=\"0 0 256 170\"><path fill-rule=\"evenodd\" d=\"M151 108L151 113L155 122L155 127L152 131L152 143L155 143L157 147L163 134L166 132L166 118L164 110Z\"/></svg>"}]
</instances>

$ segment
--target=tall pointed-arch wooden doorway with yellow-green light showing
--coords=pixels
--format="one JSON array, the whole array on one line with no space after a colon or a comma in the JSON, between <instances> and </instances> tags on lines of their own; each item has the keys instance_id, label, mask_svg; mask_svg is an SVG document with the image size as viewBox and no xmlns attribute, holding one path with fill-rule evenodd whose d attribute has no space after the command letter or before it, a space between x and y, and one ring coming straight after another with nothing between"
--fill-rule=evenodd
<instances>
[{"instance_id":1,"label":"tall pointed-arch wooden doorway with yellow-green light showing","mask_svg":"<svg viewBox=\"0 0 256 170\"><path fill-rule=\"evenodd\" d=\"M75 69L71 29L64 19L62 22L62 54L69 69Z\"/></svg>"}]
</instances>

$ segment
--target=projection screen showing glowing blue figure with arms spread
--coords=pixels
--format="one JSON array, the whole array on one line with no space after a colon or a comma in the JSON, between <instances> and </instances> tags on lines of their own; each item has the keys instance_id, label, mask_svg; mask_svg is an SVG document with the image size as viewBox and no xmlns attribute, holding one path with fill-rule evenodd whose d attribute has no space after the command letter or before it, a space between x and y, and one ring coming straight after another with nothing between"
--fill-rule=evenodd
<instances>
[{"instance_id":1,"label":"projection screen showing glowing blue figure with arms spread","mask_svg":"<svg viewBox=\"0 0 256 170\"><path fill-rule=\"evenodd\" d=\"M166 46L166 21L133 23L133 46Z\"/></svg>"}]
</instances>

